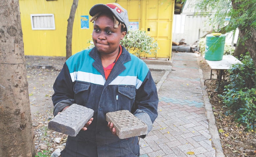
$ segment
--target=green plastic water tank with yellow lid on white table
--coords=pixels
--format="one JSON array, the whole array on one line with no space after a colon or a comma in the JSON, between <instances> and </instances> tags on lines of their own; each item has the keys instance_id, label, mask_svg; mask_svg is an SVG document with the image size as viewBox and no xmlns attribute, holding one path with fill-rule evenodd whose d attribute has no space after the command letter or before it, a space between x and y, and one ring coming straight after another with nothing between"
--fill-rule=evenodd
<instances>
[{"instance_id":1,"label":"green plastic water tank with yellow lid on white table","mask_svg":"<svg viewBox=\"0 0 256 157\"><path fill-rule=\"evenodd\" d=\"M212 33L206 35L204 58L209 61L220 61L224 54L226 36L221 33Z\"/></svg>"}]
</instances>

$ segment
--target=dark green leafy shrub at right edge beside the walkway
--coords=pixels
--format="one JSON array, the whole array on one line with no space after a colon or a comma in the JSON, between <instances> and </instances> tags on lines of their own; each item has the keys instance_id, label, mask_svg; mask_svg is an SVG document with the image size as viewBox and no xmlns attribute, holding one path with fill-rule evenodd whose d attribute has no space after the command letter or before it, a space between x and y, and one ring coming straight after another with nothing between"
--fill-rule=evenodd
<instances>
[{"instance_id":1,"label":"dark green leafy shrub at right edge beside the walkway","mask_svg":"<svg viewBox=\"0 0 256 157\"><path fill-rule=\"evenodd\" d=\"M249 55L241 60L228 70L229 84L220 96L227 114L234 114L235 121L248 130L256 128L256 71Z\"/></svg>"}]
</instances>

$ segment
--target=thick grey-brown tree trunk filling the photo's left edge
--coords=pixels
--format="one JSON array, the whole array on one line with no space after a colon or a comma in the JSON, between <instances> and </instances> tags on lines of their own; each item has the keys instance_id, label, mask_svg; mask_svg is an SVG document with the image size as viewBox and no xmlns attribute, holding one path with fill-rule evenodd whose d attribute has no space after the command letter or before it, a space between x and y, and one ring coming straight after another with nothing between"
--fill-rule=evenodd
<instances>
[{"instance_id":1,"label":"thick grey-brown tree trunk filling the photo's left edge","mask_svg":"<svg viewBox=\"0 0 256 157\"><path fill-rule=\"evenodd\" d=\"M19 3L0 6L0 156L34 157Z\"/></svg>"}]
</instances>

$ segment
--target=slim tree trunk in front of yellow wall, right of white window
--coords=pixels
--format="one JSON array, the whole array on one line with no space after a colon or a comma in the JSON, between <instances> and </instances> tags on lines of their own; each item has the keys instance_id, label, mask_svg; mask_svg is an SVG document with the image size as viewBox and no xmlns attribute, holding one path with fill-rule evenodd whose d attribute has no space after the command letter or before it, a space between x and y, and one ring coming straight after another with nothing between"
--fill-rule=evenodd
<instances>
[{"instance_id":1,"label":"slim tree trunk in front of yellow wall, right of white window","mask_svg":"<svg viewBox=\"0 0 256 157\"><path fill-rule=\"evenodd\" d=\"M72 31L73 31L73 23L75 19L77 5L78 5L78 0L73 0L69 18L67 20L66 60L70 56L72 56Z\"/></svg>"}]
</instances>

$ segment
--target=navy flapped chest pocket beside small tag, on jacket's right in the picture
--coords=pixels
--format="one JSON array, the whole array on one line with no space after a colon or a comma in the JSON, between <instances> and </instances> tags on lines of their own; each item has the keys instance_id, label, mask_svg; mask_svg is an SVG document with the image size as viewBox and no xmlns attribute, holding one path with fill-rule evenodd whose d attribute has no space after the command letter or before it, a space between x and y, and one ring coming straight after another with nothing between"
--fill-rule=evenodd
<instances>
[{"instance_id":1,"label":"navy flapped chest pocket beside small tag, on jacket's right in the picture","mask_svg":"<svg viewBox=\"0 0 256 157\"><path fill-rule=\"evenodd\" d=\"M135 103L136 87L133 85L118 86L118 110L131 111Z\"/></svg>"}]
</instances>

